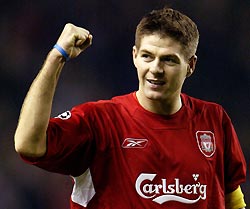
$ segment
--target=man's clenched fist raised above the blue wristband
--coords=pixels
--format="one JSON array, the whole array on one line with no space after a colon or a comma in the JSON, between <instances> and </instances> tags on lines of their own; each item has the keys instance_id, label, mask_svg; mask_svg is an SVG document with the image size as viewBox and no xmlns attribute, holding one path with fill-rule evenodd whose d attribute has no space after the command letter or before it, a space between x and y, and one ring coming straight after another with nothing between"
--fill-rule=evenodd
<instances>
[{"instance_id":1,"label":"man's clenched fist raised above the blue wristband","mask_svg":"<svg viewBox=\"0 0 250 209\"><path fill-rule=\"evenodd\" d=\"M92 38L88 30L67 23L57 44L66 51L70 58L75 58L92 44Z\"/></svg>"}]
</instances>

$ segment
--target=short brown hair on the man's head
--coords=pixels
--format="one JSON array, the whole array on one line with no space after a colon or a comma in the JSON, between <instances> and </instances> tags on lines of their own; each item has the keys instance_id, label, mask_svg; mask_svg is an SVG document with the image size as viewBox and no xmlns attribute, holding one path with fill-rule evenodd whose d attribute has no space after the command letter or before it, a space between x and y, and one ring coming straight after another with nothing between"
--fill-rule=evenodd
<instances>
[{"instance_id":1,"label":"short brown hair on the man's head","mask_svg":"<svg viewBox=\"0 0 250 209\"><path fill-rule=\"evenodd\" d=\"M137 25L135 46L140 48L141 39L152 34L169 36L178 41L187 59L196 53L199 42L197 26L189 17L177 10L164 7L146 14Z\"/></svg>"}]
</instances>

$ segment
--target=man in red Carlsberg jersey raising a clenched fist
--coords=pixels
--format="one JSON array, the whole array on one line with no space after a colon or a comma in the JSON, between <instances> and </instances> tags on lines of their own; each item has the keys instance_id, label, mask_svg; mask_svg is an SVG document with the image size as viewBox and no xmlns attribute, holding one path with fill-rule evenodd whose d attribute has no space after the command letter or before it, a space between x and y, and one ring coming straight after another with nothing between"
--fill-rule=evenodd
<instances>
[{"instance_id":1,"label":"man in red Carlsberg jersey raising a clenched fist","mask_svg":"<svg viewBox=\"0 0 250 209\"><path fill-rule=\"evenodd\" d=\"M88 102L50 119L68 58L91 45L67 24L22 107L15 149L28 163L71 175L71 208L244 208L246 163L220 105L181 93L195 69L199 33L182 13L163 8L136 29L139 88Z\"/></svg>"}]
</instances>

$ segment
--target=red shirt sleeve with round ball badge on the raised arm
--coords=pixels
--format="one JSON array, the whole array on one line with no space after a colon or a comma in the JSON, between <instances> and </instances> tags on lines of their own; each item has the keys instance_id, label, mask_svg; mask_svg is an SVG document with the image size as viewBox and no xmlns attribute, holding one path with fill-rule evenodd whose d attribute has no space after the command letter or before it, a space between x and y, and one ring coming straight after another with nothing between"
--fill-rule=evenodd
<instances>
[{"instance_id":1,"label":"red shirt sleeve with round ball badge on the raised arm","mask_svg":"<svg viewBox=\"0 0 250 209\"><path fill-rule=\"evenodd\" d=\"M94 155L93 117L89 105L75 107L56 118L47 128L47 152L41 158L22 158L50 172L78 176L89 166Z\"/></svg>"}]
</instances>

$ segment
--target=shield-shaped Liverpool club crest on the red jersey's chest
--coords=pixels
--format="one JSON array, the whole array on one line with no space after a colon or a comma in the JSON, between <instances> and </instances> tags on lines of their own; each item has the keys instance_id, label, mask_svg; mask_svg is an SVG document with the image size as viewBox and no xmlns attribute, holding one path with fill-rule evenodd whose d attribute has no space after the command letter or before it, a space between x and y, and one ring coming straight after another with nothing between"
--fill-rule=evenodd
<instances>
[{"instance_id":1,"label":"shield-shaped Liverpool club crest on the red jersey's chest","mask_svg":"<svg viewBox=\"0 0 250 209\"><path fill-rule=\"evenodd\" d=\"M211 131L197 131L196 139L202 154L206 157L212 157L216 149L214 133Z\"/></svg>"}]
</instances>

